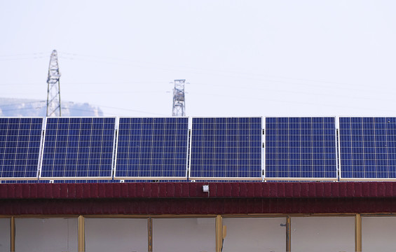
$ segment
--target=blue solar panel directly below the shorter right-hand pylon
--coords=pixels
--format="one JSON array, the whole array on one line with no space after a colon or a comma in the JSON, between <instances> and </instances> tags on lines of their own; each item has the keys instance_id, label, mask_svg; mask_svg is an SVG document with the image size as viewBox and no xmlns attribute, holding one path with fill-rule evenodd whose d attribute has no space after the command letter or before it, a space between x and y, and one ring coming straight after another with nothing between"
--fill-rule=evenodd
<instances>
[{"instance_id":1,"label":"blue solar panel directly below the shorter right-hand pylon","mask_svg":"<svg viewBox=\"0 0 396 252\"><path fill-rule=\"evenodd\" d=\"M189 118L120 118L116 176L186 177Z\"/></svg>"}]
</instances>

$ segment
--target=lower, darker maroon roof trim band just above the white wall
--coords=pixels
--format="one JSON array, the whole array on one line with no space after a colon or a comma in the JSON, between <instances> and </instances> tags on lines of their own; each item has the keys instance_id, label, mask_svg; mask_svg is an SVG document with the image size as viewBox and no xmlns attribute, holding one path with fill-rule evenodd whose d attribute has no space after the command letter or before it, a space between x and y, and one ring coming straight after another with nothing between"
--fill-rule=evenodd
<instances>
[{"instance_id":1,"label":"lower, darker maroon roof trim band just above the white wall","mask_svg":"<svg viewBox=\"0 0 396 252\"><path fill-rule=\"evenodd\" d=\"M1 215L353 214L395 213L389 198L0 200Z\"/></svg>"}]
</instances>

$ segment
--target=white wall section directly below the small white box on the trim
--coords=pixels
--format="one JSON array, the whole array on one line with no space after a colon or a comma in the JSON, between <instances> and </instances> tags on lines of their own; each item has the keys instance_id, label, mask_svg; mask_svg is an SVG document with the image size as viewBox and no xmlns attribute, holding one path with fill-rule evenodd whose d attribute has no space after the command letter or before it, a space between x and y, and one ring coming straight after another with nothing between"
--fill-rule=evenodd
<instances>
[{"instance_id":1,"label":"white wall section directly below the small white box on the trim","mask_svg":"<svg viewBox=\"0 0 396 252\"><path fill-rule=\"evenodd\" d=\"M153 218L153 252L213 252L214 218Z\"/></svg>"}]
</instances>

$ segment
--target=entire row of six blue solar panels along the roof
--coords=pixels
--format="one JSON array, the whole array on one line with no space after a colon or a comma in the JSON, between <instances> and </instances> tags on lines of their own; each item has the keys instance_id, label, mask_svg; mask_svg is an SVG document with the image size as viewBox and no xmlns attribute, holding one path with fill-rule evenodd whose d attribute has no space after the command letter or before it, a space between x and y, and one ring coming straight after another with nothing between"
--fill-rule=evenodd
<instances>
[{"instance_id":1,"label":"entire row of six blue solar panels along the roof","mask_svg":"<svg viewBox=\"0 0 396 252\"><path fill-rule=\"evenodd\" d=\"M338 139L334 117L266 118L265 127L259 117L192 118L191 125L189 118L0 118L0 183L396 180L396 118L341 117Z\"/></svg>"}]
</instances>

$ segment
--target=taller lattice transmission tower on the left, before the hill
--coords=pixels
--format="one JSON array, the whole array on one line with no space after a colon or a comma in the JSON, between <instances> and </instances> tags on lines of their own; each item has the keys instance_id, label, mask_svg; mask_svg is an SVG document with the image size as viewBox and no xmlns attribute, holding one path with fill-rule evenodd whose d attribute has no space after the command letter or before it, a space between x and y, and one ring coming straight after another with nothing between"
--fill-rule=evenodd
<instances>
[{"instance_id":1,"label":"taller lattice transmission tower on the left, before the hill","mask_svg":"<svg viewBox=\"0 0 396 252\"><path fill-rule=\"evenodd\" d=\"M48 68L47 116L61 116L59 79L60 72L59 65L57 64L57 52L53 50Z\"/></svg>"}]
</instances>

